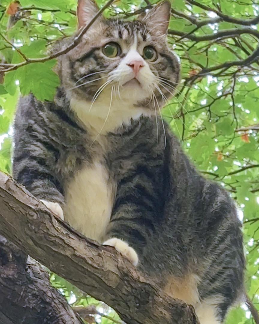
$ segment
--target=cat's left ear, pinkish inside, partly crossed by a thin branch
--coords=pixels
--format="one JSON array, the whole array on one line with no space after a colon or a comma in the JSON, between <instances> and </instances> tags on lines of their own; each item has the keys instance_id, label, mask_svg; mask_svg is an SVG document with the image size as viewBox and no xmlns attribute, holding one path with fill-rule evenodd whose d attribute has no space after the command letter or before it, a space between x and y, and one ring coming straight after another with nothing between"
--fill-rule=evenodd
<instances>
[{"instance_id":1,"label":"cat's left ear, pinkish inside, partly crossed by a thin branch","mask_svg":"<svg viewBox=\"0 0 259 324\"><path fill-rule=\"evenodd\" d=\"M91 21L91 19L97 14L98 11L99 8L94 0L78 0L76 10L78 29L87 25ZM102 16L100 15L93 25L98 26L101 24L101 22Z\"/></svg>"}]
</instances>

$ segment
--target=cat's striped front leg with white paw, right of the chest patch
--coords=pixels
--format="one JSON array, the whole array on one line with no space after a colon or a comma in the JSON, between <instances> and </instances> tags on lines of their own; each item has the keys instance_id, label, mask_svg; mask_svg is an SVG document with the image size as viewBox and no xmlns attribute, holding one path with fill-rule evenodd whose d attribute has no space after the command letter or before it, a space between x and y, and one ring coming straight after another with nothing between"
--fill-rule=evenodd
<instances>
[{"instance_id":1,"label":"cat's striped front leg with white paw, right of the chest patch","mask_svg":"<svg viewBox=\"0 0 259 324\"><path fill-rule=\"evenodd\" d=\"M143 167L144 169L144 167ZM104 243L113 246L133 265L142 263L162 210L160 191L153 184L152 170L136 166L120 180ZM142 170L142 169L141 169Z\"/></svg>"}]
</instances>

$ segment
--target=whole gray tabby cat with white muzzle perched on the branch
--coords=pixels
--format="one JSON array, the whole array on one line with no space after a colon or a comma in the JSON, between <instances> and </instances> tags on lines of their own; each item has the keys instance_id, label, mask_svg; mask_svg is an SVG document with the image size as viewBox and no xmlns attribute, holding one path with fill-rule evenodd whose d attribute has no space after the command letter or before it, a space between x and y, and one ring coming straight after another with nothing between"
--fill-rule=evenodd
<instances>
[{"instance_id":1,"label":"whole gray tabby cat with white muzzle perched on the branch","mask_svg":"<svg viewBox=\"0 0 259 324\"><path fill-rule=\"evenodd\" d=\"M58 58L53 102L19 101L13 175L193 305L201 324L219 324L244 292L241 223L229 193L197 172L161 119L180 78L167 47L170 8L162 2L134 21L100 16ZM79 0L78 27L97 11Z\"/></svg>"}]
</instances>

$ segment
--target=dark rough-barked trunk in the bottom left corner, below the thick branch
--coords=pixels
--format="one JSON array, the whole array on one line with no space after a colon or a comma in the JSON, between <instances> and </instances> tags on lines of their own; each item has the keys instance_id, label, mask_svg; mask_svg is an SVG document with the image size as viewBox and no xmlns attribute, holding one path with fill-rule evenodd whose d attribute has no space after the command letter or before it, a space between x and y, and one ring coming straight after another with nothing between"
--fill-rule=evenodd
<instances>
[{"instance_id":1,"label":"dark rough-barked trunk in the bottom left corner, below the thick branch","mask_svg":"<svg viewBox=\"0 0 259 324\"><path fill-rule=\"evenodd\" d=\"M83 324L35 260L0 236L0 323Z\"/></svg>"}]
</instances>

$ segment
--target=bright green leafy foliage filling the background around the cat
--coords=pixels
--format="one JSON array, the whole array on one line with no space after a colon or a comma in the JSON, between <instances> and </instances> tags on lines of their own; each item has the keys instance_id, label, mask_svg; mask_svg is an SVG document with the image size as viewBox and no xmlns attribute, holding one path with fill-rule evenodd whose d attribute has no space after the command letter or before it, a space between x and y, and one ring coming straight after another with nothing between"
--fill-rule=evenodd
<instances>
[{"instance_id":1,"label":"bright green leafy foliage filling the background around the cat","mask_svg":"<svg viewBox=\"0 0 259 324\"><path fill-rule=\"evenodd\" d=\"M99 6L103 4L98 0ZM149 5L148 0L119 0L105 14L133 19L135 10L142 12ZM163 115L197 168L228 189L241 208L245 284L258 307L259 5L253 0L174 0L172 6L168 41L181 58L183 80ZM18 4L1 0L0 61L17 64L24 57L44 57L55 40L75 31L75 10L76 0ZM11 172L11 125L19 94L32 92L40 100L51 100L59 85L54 64L54 60L30 63L4 78L0 72L0 169L5 172ZM53 274L51 282L70 303L96 303L104 315L115 316L62 278ZM95 317L98 323L112 323L107 317ZM227 324L252 323L245 305L233 309L227 320Z\"/></svg>"}]
</instances>

